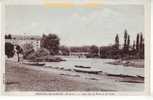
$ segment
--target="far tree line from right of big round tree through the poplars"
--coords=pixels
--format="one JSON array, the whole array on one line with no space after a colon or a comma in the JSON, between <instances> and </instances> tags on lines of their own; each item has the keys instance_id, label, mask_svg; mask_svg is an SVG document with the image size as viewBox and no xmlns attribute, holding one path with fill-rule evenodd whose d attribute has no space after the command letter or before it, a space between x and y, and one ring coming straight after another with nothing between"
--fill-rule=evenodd
<instances>
[{"instance_id":1,"label":"far tree line from right of big round tree through the poplars","mask_svg":"<svg viewBox=\"0 0 153 100\"><path fill-rule=\"evenodd\" d=\"M124 43L120 43L119 35L116 34L114 44L110 46L96 45L81 47L61 46L59 50L63 55L69 55L70 52L88 52L88 58L111 58L111 59L144 59L144 37L142 33L138 33L136 39L131 43L130 35L127 30L124 31Z\"/></svg>"}]
</instances>

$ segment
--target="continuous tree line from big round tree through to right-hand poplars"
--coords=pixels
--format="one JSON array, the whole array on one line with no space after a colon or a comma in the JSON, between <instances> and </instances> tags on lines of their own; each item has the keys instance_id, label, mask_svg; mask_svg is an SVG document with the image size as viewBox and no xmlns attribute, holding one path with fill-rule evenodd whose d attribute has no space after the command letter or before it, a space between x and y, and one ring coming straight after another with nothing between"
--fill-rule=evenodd
<instances>
[{"instance_id":1,"label":"continuous tree line from big round tree through to right-hand poplars","mask_svg":"<svg viewBox=\"0 0 153 100\"><path fill-rule=\"evenodd\" d=\"M138 33L136 39L131 43L130 35L127 30L124 31L124 44L120 44L119 35L116 34L115 43L111 46L96 45L67 47L60 46L60 39L55 34L43 35L41 47L50 51L51 55L67 55L70 52L88 52L86 57L112 58L112 59L144 59L144 37Z\"/></svg>"}]
</instances>

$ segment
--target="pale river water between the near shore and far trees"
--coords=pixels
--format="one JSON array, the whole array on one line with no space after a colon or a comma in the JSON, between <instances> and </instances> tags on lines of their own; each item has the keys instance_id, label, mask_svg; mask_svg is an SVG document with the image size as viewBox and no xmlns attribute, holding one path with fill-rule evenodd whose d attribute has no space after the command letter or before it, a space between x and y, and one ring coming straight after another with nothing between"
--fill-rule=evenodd
<instances>
[{"instance_id":1,"label":"pale river water between the near shore and far trees","mask_svg":"<svg viewBox=\"0 0 153 100\"><path fill-rule=\"evenodd\" d=\"M102 71L103 73L114 75L129 75L129 76L143 76L144 68L135 68L133 66L112 65L108 62L114 61L113 59L100 59L100 58L78 58L78 57L65 57L62 59L66 61L62 62L45 62L48 67L59 67L64 69L75 68L75 65L90 66L91 70Z\"/></svg>"}]
</instances>

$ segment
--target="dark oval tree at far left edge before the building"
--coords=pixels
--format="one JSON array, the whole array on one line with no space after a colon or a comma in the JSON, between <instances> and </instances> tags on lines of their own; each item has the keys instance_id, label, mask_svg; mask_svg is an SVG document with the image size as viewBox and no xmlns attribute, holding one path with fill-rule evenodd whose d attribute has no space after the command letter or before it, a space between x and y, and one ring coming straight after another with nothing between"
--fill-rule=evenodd
<instances>
[{"instance_id":1,"label":"dark oval tree at far left edge before the building","mask_svg":"<svg viewBox=\"0 0 153 100\"><path fill-rule=\"evenodd\" d=\"M14 45L9 43L9 42L6 42L5 43L5 55L8 57L8 58L11 58L13 57L15 54L15 51L14 51Z\"/></svg>"}]
</instances>

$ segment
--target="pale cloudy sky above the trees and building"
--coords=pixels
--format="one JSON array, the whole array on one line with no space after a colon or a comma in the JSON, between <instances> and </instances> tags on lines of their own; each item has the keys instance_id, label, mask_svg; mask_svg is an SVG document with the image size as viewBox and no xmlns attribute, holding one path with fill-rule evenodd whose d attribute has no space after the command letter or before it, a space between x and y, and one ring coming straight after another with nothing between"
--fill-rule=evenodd
<instances>
[{"instance_id":1,"label":"pale cloudy sky above the trees and building","mask_svg":"<svg viewBox=\"0 0 153 100\"><path fill-rule=\"evenodd\" d=\"M96 8L51 8L43 5L9 5L5 8L5 31L11 34L53 33L61 45L110 45L118 34L123 42L127 29L131 43L144 33L143 5L101 5Z\"/></svg>"}]
</instances>

